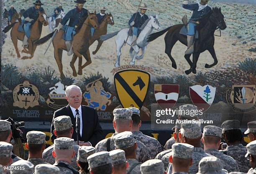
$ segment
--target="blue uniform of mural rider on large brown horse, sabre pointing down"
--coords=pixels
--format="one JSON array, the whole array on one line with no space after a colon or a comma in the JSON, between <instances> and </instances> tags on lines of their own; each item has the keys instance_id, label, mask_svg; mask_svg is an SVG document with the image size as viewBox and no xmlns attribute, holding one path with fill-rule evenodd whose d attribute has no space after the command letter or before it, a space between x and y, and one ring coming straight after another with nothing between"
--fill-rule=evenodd
<instances>
[{"instance_id":1,"label":"blue uniform of mural rider on large brown horse, sabre pointing down","mask_svg":"<svg viewBox=\"0 0 256 174\"><path fill-rule=\"evenodd\" d=\"M65 31L64 40L72 41L72 36L75 34L75 26L79 23L82 18L87 18L88 11L85 8L79 10L79 8L74 8L70 10L64 18L61 20L61 25L66 25L69 20L69 25L64 26L62 29Z\"/></svg>"}]
</instances>

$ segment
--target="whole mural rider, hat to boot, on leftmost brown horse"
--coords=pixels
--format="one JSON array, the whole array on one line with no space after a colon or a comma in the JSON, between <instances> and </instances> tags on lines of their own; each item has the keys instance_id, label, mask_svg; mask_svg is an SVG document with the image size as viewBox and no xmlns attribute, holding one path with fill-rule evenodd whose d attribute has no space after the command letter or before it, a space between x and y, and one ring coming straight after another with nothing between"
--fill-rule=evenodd
<instances>
[{"instance_id":1,"label":"whole mural rider, hat to boot, on leftmost brown horse","mask_svg":"<svg viewBox=\"0 0 256 174\"><path fill-rule=\"evenodd\" d=\"M31 31L30 28L33 25L33 23L36 22L39 14L38 12L42 12L44 11L44 8L41 7L41 5L44 5L41 3L40 0L37 0L35 3L33 3L35 6L28 8L28 10L26 10L23 13L23 17L22 17L22 24L24 25L24 31L25 31L25 36L24 36L24 40L23 40L23 47L25 48L28 45L28 38L31 35Z\"/></svg>"}]
</instances>

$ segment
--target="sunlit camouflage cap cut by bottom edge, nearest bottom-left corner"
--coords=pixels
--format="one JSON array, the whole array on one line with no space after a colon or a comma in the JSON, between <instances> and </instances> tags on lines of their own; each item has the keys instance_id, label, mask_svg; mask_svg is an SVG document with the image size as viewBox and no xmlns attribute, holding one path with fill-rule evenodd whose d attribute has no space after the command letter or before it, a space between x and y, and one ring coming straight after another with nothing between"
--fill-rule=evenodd
<instances>
[{"instance_id":1,"label":"sunlit camouflage cap cut by bottom edge, nearest bottom-left corner","mask_svg":"<svg viewBox=\"0 0 256 174\"><path fill-rule=\"evenodd\" d=\"M33 174L34 173L34 165L26 160L19 160L15 163L11 164L11 174Z\"/></svg>"}]
</instances>

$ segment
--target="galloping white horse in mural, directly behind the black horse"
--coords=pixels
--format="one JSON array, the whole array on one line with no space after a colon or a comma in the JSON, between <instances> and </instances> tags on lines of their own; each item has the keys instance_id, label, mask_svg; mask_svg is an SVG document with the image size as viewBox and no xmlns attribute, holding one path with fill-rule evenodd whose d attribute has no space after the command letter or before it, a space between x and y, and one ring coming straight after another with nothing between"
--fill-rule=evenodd
<instances>
[{"instance_id":1,"label":"galloping white horse in mural, directly behind the black horse","mask_svg":"<svg viewBox=\"0 0 256 174\"><path fill-rule=\"evenodd\" d=\"M150 18L148 18L148 20L145 21L143 26L141 26L140 28L141 33L139 34L136 40L136 45L134 46L131 46L133 44L133 41L132 41L133 36L128 36L128 32L130 28L124 28L120 31L116 31L114 33L106 34L100 37L100 40L106 41L109 38L112 38L115 35L117 35L115 38L115 44L116 44L116 50L117 50L117 60L115 62L115 67L120 67L121 48L125 44L127 37L128 39L126 43L129 46L131 46L130 56L132 58L129 64L131 65L135 64L135 59L138 59L138 60L143 59L147 49L147 45L148 45L148 42L147 42L148 36L152 33L154 29L156 30L161 29L160 23L157 18L158 18L157 15L150 16ZM142 54L138 55L140 49L142 50Z\"/></svg>"}]
</instances>

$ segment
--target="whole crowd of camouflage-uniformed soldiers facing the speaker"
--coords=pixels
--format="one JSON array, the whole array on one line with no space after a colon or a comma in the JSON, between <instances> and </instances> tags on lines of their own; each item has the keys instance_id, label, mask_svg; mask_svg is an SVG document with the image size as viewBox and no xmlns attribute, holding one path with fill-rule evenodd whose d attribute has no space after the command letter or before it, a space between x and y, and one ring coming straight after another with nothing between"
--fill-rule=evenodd
<instances>
[{"instance_id":1,"label":"whole crowd of camouflage-uniformed soldiers facing the speaker","mask_svg":"<svg viewBox=\"0 0 256 174\"><path fill-rule=\"evenodd\" d=\"M0 174L256 174L256 121L248 123L245 134L251 143L246 147L241 144L238 120L226 120L221 128L206 125L203 133L200 124L177 123L164 150L155 138L139 130L140 110L120 108L113 115L115 133L95 147L78 146L71 139L72 121L65 115L54 118L57 138L46 149L46 134L29 131L25 144L28 160L13 154L10 123L0 120ZM225 150L219 150L221 138L228 144Z\"/></svg>"}]
</instances>

